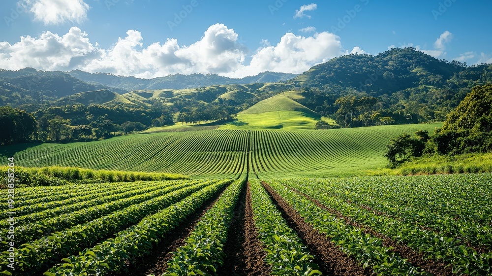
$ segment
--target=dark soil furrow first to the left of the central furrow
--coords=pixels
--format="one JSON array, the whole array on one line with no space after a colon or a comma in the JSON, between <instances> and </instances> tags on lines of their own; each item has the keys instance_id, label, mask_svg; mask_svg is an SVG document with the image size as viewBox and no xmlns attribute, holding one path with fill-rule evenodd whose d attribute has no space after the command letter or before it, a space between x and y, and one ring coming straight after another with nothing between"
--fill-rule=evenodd
<instances>
[{"instance_id":1,"label":"dark soil furrow first to the left of the central furrow","mask_svg":"<svg viewBox=\"0 0 492 276\"><path fill-rule=\"evenodd\" d=\"M220 195L222 195L222 193L223 190ZM214 206L215 202L220 198L220 195L212 197L205 202L203 207L200 207L187 217L179 227L165 235L165 237L163 237L163 239L154 247L154 250L150 255L147 255L132 264L128 263L129 272L121 274L121 276L146 276L149 274L160 276L163 274L167 269L167 262L173 257L172 253L184 245L184 242L191 232L193 232L201 217Z\"/></svg>"}]
</instances>

